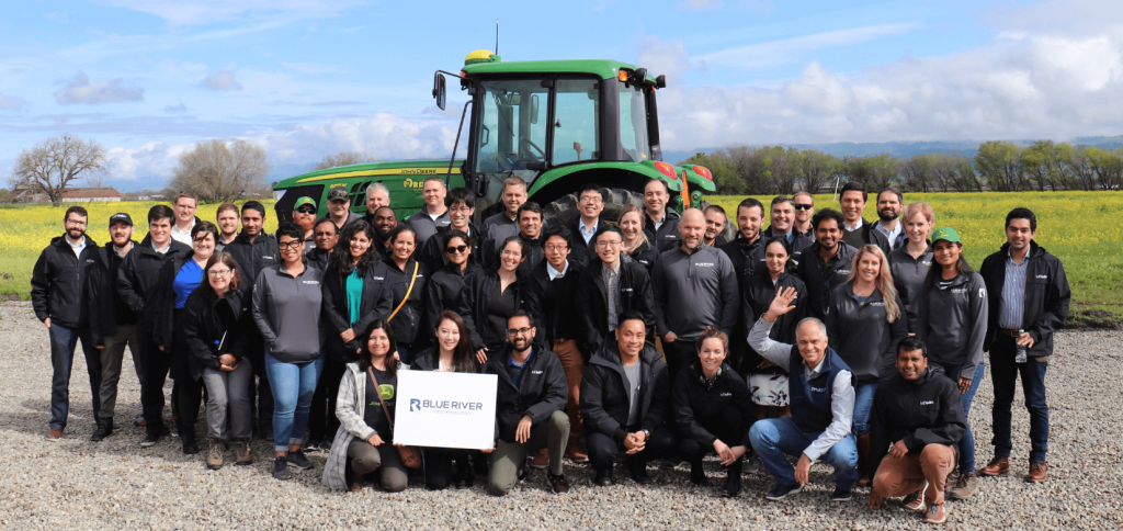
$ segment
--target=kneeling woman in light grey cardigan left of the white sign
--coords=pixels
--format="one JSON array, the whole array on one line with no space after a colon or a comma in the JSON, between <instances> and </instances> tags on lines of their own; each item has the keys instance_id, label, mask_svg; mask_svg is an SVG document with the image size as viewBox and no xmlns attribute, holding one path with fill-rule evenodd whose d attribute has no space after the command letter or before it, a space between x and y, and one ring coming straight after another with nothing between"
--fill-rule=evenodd
<instances>
[{"instance_id":1,"label":"kneeling woman in light grey cardigan left of the white sign","mask_svg":"<svg viewBox=\"0 0 1123 531\"><path fill-rule=\"evenodd\" d=\"M323 466L323 484L358 492L359 479L378 470L383 489L401 492L409 477L394 448L401 445L393 445L393 419L389 416L398 394L394 331L378 319L360 345L359 360L347 364L339 382L336 416L340 425Z\"/></svg>"}]
</instances>

